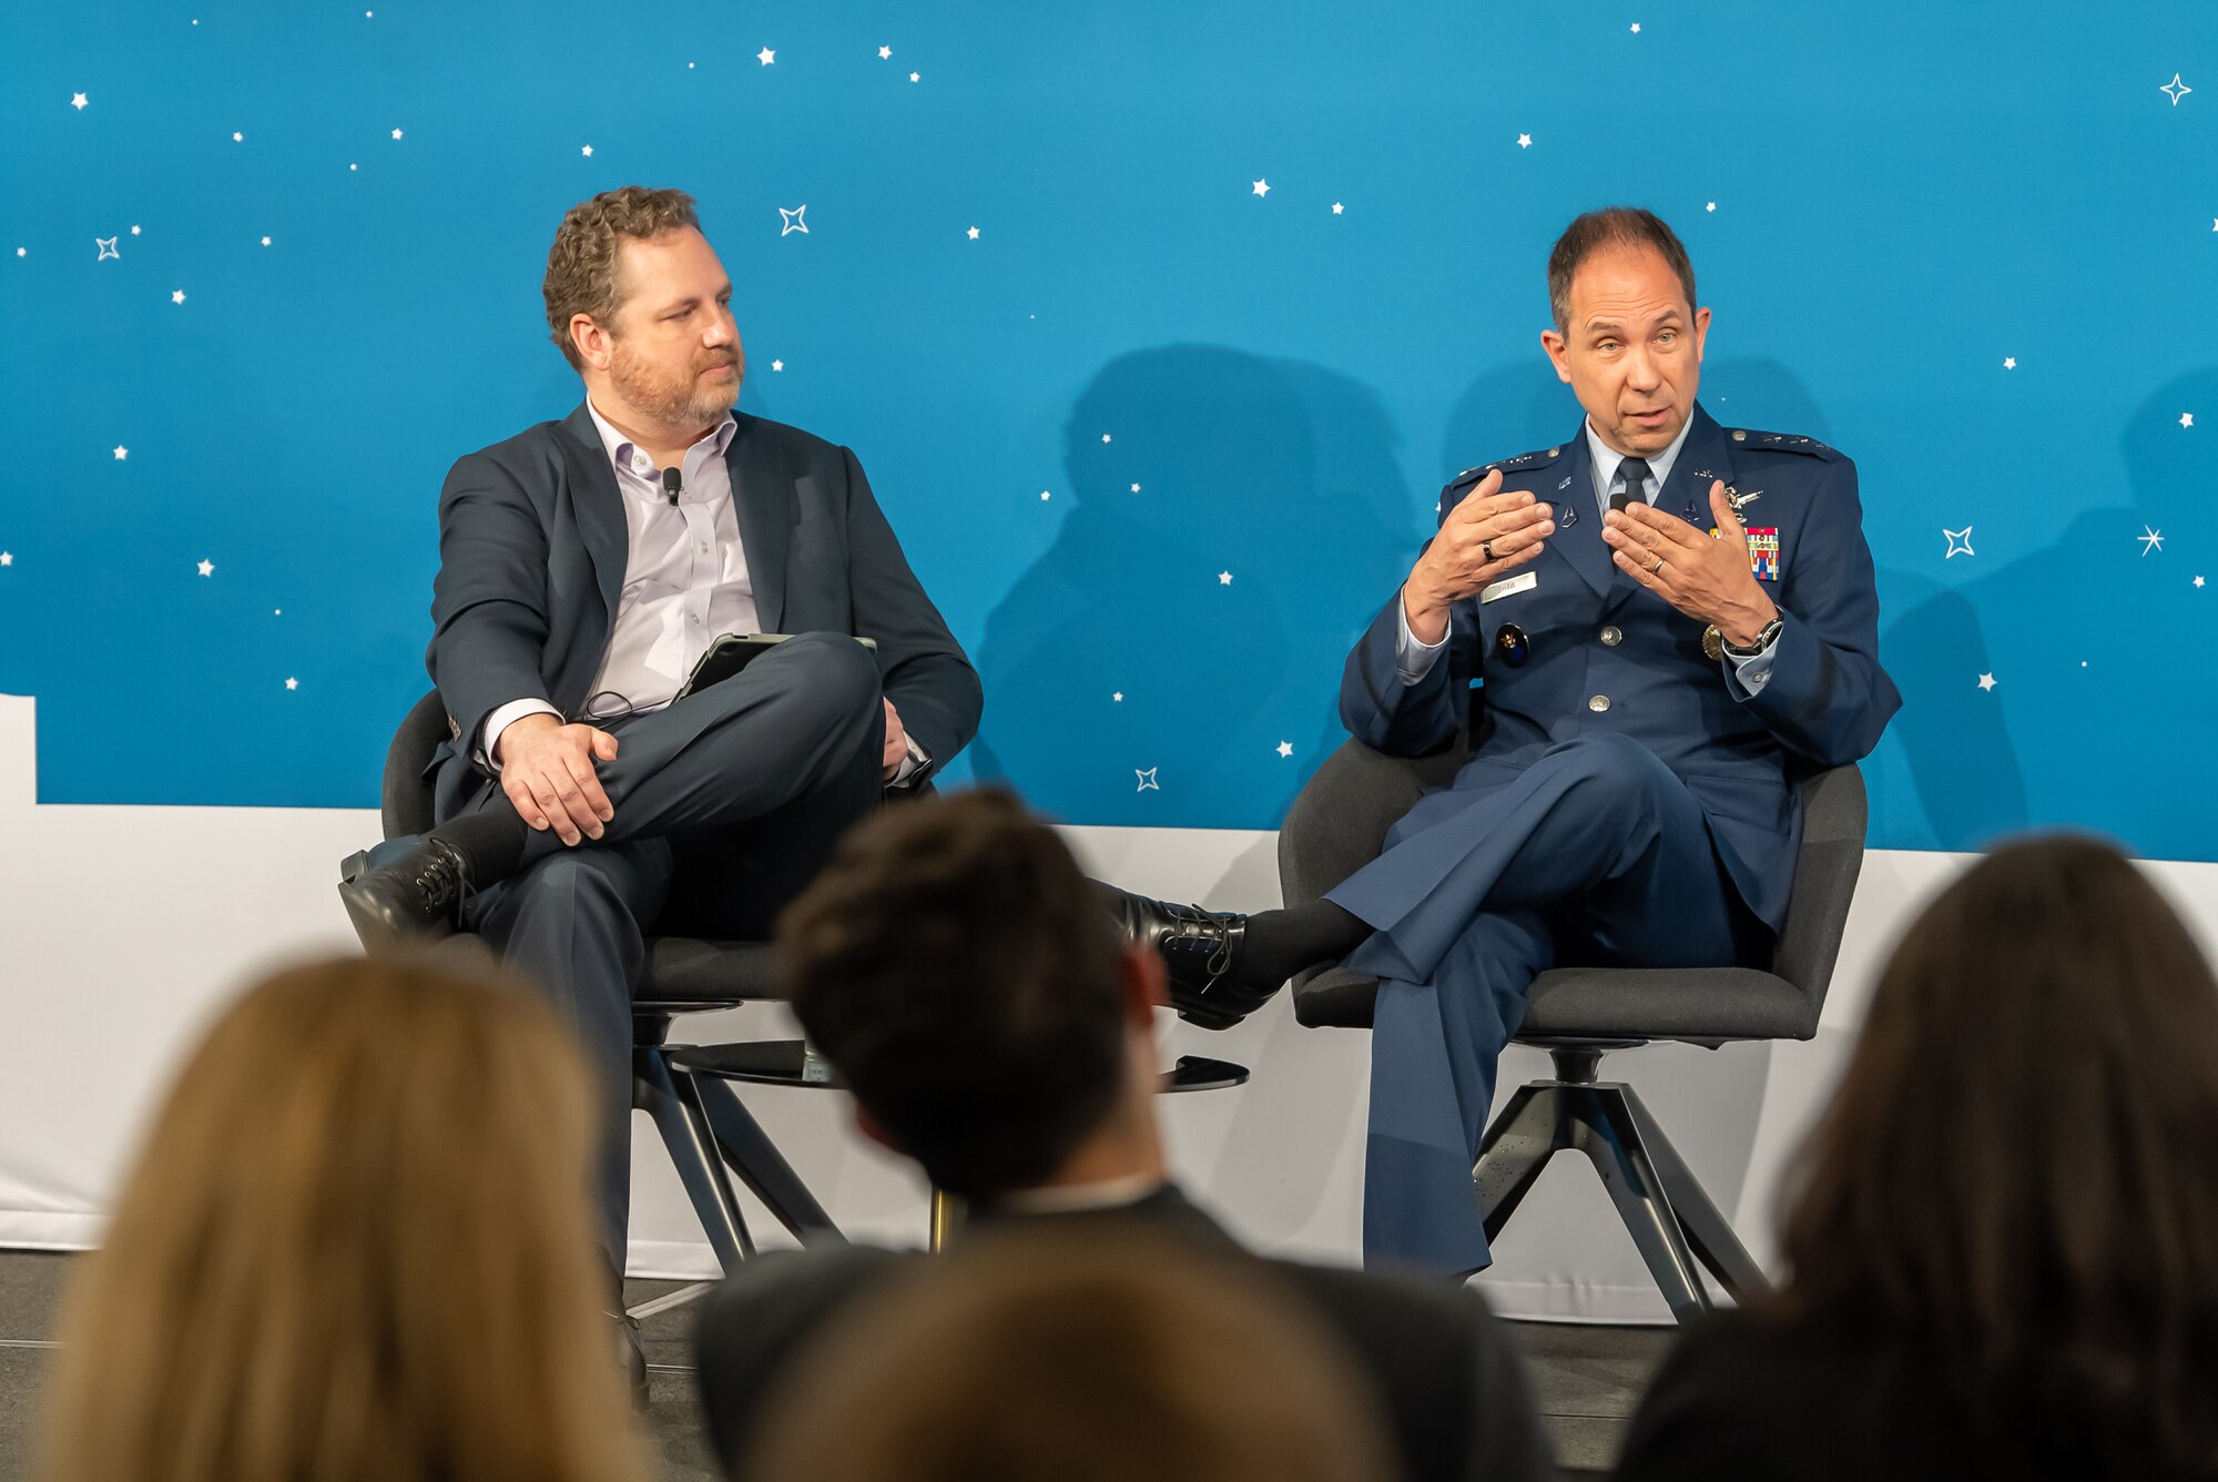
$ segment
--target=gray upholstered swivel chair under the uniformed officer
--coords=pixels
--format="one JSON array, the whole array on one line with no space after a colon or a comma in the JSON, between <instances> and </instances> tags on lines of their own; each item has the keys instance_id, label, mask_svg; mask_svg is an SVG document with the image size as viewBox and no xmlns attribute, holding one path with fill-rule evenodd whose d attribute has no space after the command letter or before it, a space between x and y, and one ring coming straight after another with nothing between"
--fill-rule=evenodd
<instances>
[{"instance_id":1,"label":"gray upholstered swivel chair under the uniformed officer","mask_svg":"<svg viewBox=\"0 0 2218 1482\"><path fill-rule=\"evenodd\" d=\"M1395 819L1424 790L1448 785L1462 761L1457 752L1404 761L1360 741L1333 752L1302 788L1278 836L1286 903L1315 901L1377 859ZM1863 774L1854 765L1834 768L1803 779L1799 790L1803 843L1770 972L1557 967L1535 978L1515 1043L1546 1049L1555 1076L1519 1087L1479 1145L1473 1185L1488 1240L1508 1225L1548 1158L1579 1149L1593 1158L1681 1322L1710 1307L1697 1260L1734 1298L1766 1289L1763 1271L1641 1098L1630 1085L1595 1074L1606 1052L1652 1041L1715 1049L1728 1041L1817 1034L1863 867ZM1377 981L1346 967L1293 981L1295 1018L1313 1027L1369 1029L1375 998Z\"/></svg>"}]
</instances>

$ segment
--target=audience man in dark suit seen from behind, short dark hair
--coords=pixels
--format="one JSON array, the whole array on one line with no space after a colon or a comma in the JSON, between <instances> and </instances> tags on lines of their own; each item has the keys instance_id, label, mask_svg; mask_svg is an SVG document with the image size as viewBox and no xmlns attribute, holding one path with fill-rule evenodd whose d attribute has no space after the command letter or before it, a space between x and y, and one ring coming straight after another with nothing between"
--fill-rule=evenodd
<instances>
[{"instance_id":1,"label":"audience man in dark suit seen from behind, short dark hair","mask_svg":"<svg viewBox=\"0 0 2218 1482\"><path fill-rule=\"evenodd\" d=\"M1477 1293L1260 1260L1169 1182L1151 1034L1162 958L1116 943L1098 887L1014 799L978 792L858 828L779 943L794 1012L863 1131L969 1200L976 1225L1105 1242L1153 1231L1249 1262L1346 1342L1400 1475L1553 1471L1524 1369ZM728 1469L812 1336L918 1260L776 1253L708 1298L701 1400Z\"/></svg>"}]
</instances>

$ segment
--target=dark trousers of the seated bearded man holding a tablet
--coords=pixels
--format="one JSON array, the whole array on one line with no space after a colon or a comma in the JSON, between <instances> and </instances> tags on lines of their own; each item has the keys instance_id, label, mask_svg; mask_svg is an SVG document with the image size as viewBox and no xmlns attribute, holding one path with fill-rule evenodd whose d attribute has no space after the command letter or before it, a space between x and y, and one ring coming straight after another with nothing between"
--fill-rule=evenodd
<instances>
[{"instance_id":1,"label":"dark trousers of the seated bearded man holding a tablet","mask_svg":"<svg viewBox=\"0 0 2218 1482\"><path fill-rule=\"evenodd\" d=\"M885 706L869 652L801 635L665 710L606 725L614 819L475 896L470 930L577 1032L601 1100L594 1189L621 1271L632 1189L632 992L654 932L759 941L881 796ZM488 799L490 801L490 799Z\"/></svg>"}]
</instances>

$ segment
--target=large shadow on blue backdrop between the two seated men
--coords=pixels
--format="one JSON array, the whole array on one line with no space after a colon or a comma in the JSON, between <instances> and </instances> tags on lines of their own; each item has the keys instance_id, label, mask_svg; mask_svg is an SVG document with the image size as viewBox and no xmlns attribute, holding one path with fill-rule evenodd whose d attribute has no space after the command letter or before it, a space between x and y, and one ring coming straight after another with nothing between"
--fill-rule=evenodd
<instances>
[{"instance_id":1,"label":"large shadow on blue backdrop between the two seated men","mask_svg":"<svg viewBox=\"0 0 2218 1482\"><path fill-rule=\"evenodd\" d=\"M987 617L978 781L1087 823L1275 825L1344 739L1340 663L1408 559L1395 441L1322 366L1102 366L1065 424L1076 508Z\"/></svg>"}]
</instances>

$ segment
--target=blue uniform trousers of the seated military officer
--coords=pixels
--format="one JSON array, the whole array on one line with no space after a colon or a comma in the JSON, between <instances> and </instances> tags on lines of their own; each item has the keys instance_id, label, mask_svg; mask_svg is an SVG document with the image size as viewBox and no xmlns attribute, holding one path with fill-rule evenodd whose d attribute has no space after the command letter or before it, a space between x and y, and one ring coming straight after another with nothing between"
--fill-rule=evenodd
<instances>
[{"instance_id":1,"label":"blue uniform trousers of the seated military officer","mask_svg":"<svg viewBox=\"0 0 2218 1482\"><path fill-rule=\"evenodd\" d=\"M1349 967L1380 981L1364 1260L1444 1273L1490 1260L1471 1167L1533 978L1573 963L1730 965L1768 945L1701 803L1619 734L1428 796L1329 899L1373 927Z\"/></svg>"}]
</instances>

